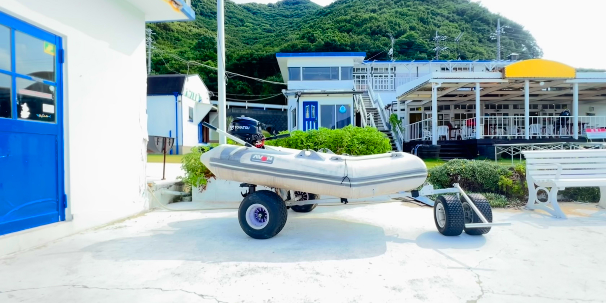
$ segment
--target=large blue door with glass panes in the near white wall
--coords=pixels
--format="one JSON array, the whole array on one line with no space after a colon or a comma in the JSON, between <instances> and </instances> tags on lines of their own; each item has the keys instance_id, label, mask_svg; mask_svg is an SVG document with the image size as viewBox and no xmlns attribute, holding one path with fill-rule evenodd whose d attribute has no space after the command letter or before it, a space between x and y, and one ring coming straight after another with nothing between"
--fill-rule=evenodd
<instances>
[{"instance_id":1,"label":"large blue door with glass panes in the near white wall","mask_svg":"<svg viewBox=\"0 0 606 303\"><path fill-rule=\"evenodd\" d=\"M65 219L61 38L0 13L0 235Z\"/></svg>"}]
</instances>

